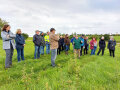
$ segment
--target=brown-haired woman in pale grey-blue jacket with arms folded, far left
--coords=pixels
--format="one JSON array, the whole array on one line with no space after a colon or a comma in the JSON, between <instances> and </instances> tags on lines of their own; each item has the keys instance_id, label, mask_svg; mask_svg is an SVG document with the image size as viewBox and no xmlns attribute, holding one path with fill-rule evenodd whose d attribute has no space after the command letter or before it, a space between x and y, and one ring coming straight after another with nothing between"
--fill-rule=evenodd
<instances>
[{"instance_id":1,"label":"brown-haired woman in pale grey-blue jacket with arms folded, far left","mask_svg":"<svg viewBox=\"0 0 120 90\"><path fill-rule=\"evenodd\" d=\"M6 52L5 68L10 68L12 66L12 56L15 49L15 37L16 35L10 31L10 25L4 25L1 37L3 40L3 49Z\"/></svg>"}]
</instances>

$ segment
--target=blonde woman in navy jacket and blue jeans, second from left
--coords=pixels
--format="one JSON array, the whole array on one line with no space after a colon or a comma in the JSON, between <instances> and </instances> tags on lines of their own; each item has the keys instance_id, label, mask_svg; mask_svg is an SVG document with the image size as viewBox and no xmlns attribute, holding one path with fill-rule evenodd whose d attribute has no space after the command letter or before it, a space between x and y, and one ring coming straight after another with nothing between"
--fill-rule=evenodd
<instances>
[{"instance_id":1,"label":"blonde woman in navy jacket and blue jeans, second from left","mask_svg":"<svg viewBox=\"0 0 120 90\"><path fill-rule=\"evenodd\" d=\"M21 29L18 29L15 38L18 62L20 62L21 59L24 60L25 39L21 34Z\"/></svg>"}]
</instances>

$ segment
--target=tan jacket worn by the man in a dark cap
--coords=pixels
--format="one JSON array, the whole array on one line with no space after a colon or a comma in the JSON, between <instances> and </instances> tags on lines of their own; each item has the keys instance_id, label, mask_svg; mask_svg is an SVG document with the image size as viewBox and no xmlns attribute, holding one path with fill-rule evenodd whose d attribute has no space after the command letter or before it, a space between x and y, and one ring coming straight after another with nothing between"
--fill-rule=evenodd
<instances>
[{"instance_id":1,"label":"tan jacket worn by the man in a dark cap","mask_svg":"<svg viewBox=\"0 0 120 90\"><path fill-rule=\"evenodd\" d=\"M52 32L50 32L49 40L50 40L50 49L57 49L58 48L59 35L56 35L56 34L53 34Z\"/></svg>"}]
</instances>

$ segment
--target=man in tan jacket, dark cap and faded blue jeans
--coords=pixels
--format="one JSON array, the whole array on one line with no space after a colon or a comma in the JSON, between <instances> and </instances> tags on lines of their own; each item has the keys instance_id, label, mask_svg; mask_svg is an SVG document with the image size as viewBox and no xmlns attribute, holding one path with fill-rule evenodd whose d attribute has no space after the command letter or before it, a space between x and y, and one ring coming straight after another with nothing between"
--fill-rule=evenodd
<instances>
[{"instance_id":1,"label":"man in tan jacket, dark cap and faded blue jeans","mask_svg":"<svg viewBox=\"0 0 120 90\"><path fill-rule=\"evenodd\" d=\"M51 49L51 64L53 67L55 67L55 59L57 57L57 48L58 48L58 41L59 41L59 35L55 34L55 29L50 29L50 49Z\"/></svg>"}]
</instances>

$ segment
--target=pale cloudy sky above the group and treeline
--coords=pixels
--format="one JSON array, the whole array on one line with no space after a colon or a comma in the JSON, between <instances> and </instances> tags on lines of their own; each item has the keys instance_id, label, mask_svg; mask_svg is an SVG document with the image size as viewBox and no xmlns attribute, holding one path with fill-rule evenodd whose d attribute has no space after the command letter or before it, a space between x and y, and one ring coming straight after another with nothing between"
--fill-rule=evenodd
<instances>
[{"instance_id":1,"label":"pale cloudy sky above the group and treeline","mask_svg":"<svg viewBox=\"0 0 120 90\"><path fill-rule=\"evenodd\" d=\"M1 0L0 18L30 36L52 27L64 34L120 33L120 0Z\"/></svg>"}]
</instances>

